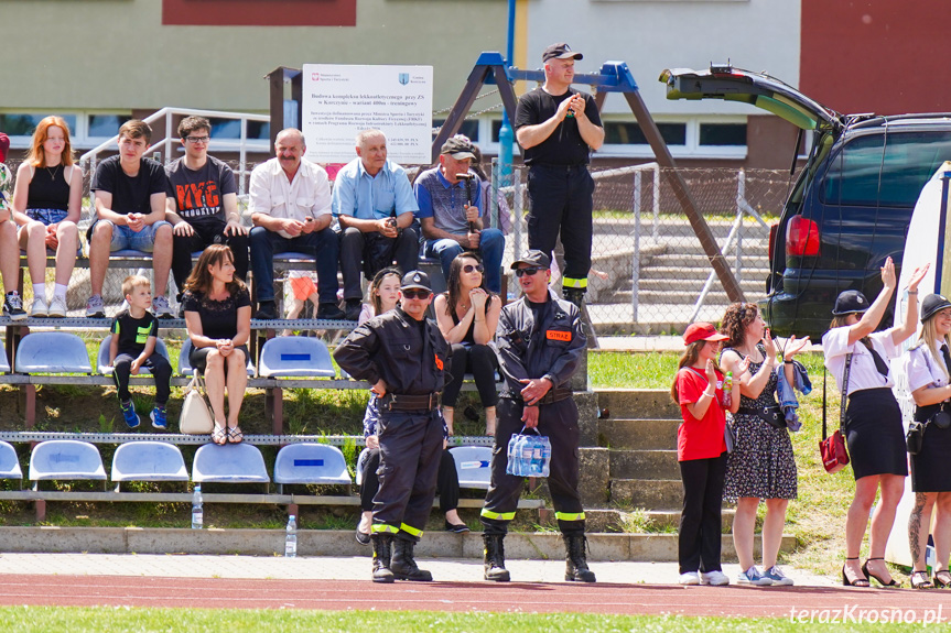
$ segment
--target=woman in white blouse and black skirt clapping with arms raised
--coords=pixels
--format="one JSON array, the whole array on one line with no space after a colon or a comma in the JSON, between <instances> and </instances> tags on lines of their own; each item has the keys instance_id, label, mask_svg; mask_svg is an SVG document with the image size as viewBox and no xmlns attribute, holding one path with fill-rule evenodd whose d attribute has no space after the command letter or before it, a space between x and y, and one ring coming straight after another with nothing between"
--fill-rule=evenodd
<instances>
[{"instance_id":1,"label":"woman in white blouse and black skirt clapping with arms raised","mask_svg":"<svg viewBox=\"0 0 951 633\"><path fill-rule=\"evenodd\" d=\"M908 462L901 411L891 393L895 383L888 359L898 357L901 342L915 334L918 284L927 272L926 265L911 274L904 323L876 332L896 286L895 264L888 258L882 266L883 287L875 302L869 304L858 291L843 292L835 299L832 325L822 336L825 367L835 376L840 392L843 392L846 360L851 357L844 433L855 476L855 496L845 519L843 585L868 587L869 577L884 586L896 585L885 565L885 544L905 490ZM882 499L872 516L868 559L860 567L862 538L879 489Z\"/></svg>"}]
</instances>

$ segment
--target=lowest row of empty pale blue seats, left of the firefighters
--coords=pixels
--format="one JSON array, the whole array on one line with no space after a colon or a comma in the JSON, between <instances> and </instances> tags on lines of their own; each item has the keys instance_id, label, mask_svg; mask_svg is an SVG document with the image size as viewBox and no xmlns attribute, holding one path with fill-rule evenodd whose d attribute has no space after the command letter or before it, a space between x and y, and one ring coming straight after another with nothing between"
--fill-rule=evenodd
<instances>
[{"instance_id":1,"label":"lowest row of empty pale blue seats, left of the firefighters","mask_svg":"<svg viewBox=\"0 0 951 633\"><path fill-rule=\"evenodd\" d=\"M15 449L0 441L0 478L23 479ZM89 479L106 480L99 449L75 439L37 444L30 455L31 481ZM192 476L182 451L165 441L120 444L112 456L111 481L188 481L195 483L270 483L258 447L241 443L206 444L195 452ZM326 444L291 444L278 451L274 481L284 483L349 484L341 449Z\"/></svg>"}]
</instances>

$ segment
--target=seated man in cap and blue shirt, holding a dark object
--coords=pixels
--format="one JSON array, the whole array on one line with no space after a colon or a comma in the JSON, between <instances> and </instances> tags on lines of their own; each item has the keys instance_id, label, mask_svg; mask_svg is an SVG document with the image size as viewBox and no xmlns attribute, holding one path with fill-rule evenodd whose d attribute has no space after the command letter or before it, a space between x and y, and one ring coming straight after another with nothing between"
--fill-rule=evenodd
<instances>
[{"instance_id":1,"label":"seated man in cap and blue shirt, holding a dark object","mask_svg":"<svg viewBox=\"0 0 951 633\"><path fill-rule=\"evenodd\" d=\"M443 143L440 165L420 174L413 186L420 207L417 217L426 240L425 257L440 259L446 280L457 254L463 250L478 251L485 262L486 286L499 294L505 236L498 229L483 228L482 187L478 176L469 173L473 159L475 153L467 138L456 135Z\"/></svg>"}]
</instances>

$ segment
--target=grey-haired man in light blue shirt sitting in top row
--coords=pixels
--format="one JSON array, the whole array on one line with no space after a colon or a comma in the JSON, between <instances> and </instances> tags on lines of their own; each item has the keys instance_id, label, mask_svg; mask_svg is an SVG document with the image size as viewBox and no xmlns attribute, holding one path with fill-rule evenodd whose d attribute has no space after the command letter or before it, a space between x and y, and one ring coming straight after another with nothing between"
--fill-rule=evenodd
<instances>
[{"instance_id":1,"label":"grey-haired man in light blue shirt sitting in top row","mask_svg":"<svg viewBox=\"0 0 951 633\"><path fill-rule=\"evenodd\" d=\"M360 270L367 280L392 264L415 270L419 234L410 227L418 210L406 170L387 161L379 130L357 134L357 157L337 173L334 216L341 222L341 272L347 320L360 316Z\"/></svg>"}]
</instances>

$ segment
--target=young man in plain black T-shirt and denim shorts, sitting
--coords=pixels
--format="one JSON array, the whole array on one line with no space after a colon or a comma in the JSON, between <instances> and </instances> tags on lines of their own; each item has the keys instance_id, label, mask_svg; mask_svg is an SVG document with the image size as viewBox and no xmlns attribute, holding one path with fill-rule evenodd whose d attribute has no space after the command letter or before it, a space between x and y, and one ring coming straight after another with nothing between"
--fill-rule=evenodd
<instances>
[{"instance_id":1,"label":"young man in plain black T-shirt and denim shorts, sitting","mask_svg":"<svg viewBox=\"0 0 951 633\"><path fill-rule=\"evenodd\" d=\"M96 221L89 227L89 283L91 296L86 316L104 318L102 284L109 253L131 249L153 253L152 314L171 318L165 298L172 268L172 225L165 221L169 179L155 161L143 157L152 141L144 121L127 121L119 128L119 155L99 163L90 190L96 193Z\"/></svg>"}]
</instances>

